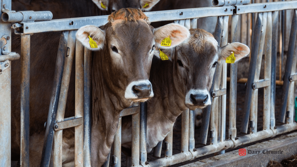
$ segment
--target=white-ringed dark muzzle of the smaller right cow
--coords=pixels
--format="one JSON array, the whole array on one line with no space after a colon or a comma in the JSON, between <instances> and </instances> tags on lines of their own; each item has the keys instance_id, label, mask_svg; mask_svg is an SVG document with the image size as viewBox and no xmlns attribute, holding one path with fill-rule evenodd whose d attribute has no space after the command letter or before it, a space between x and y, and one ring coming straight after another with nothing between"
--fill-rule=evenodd
<instances>
[{"instance_id":1,"label":"white-ringed dark muzzle of the smaller right cow","mask_svg":"<svg viewBox=\"0 0 297 167\"><path fill-rule=\"evenodd\" d=\"M211 105L210 94L204 89L191 89L186 94L185 104L189 108L204 108Z\"/></svg>"}]
</instances>

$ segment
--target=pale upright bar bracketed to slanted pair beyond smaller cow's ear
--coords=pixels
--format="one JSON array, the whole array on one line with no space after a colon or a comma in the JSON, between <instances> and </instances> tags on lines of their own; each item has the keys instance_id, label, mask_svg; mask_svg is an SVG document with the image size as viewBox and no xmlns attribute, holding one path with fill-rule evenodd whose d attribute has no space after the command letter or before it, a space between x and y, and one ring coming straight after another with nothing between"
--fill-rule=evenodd
<instances>
[{"instance_id":1,"label":"pale upright bar bracketed to slanted pair beyond smaller cow's ear","mask_svg":"<svg viewBox=\"0 0 297 167\"><path fill-rule=\"evenodd\" d=\"M267 14L266 38L265 38L265 64L264 79L270 80L271 77L271 40L272 40L272 15ZM263 108L263 130L270 128L270 90L271 86L264 87L264 108Z\"/></svg>"}]
</instances>

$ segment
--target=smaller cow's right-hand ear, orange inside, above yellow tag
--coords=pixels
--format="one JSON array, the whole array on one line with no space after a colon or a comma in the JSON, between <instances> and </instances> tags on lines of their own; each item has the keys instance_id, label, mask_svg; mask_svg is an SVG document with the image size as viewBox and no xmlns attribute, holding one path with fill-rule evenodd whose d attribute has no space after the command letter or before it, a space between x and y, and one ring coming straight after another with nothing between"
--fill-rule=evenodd
<instances>
[{"instance_id":1,"label":"smaller cow's right-hand ear, orange inside, above yellow tag","mask_svg":"<svg viewBox=\"0 0 297 167\"><path fill-rule=\"evenodd\" d=\"M219 48L219 59L226 60L234 52L235 61L240 60L249 54L249 47L239 42L233 42Z\"/></svg>"}]
</instances>

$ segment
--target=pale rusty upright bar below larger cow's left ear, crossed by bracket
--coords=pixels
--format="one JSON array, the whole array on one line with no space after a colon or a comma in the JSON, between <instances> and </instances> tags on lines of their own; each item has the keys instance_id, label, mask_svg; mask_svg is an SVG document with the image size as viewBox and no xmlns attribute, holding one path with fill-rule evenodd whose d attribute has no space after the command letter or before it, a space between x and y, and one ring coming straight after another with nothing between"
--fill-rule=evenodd
<instances>
[{"instance_id":1,"label":"pale rusty upright bar below larger cow's left ear, crossed by bracket","mask_svg":"<svg viewBox=\"0 0 297 167\"><path fill-rule=\"evenodd\" d=\"M84 47L77 40L75 44L75 118L83 116L84 104ZM75 167L83 166L83 125L75 127Z\"/></svg>"}]
</instances>

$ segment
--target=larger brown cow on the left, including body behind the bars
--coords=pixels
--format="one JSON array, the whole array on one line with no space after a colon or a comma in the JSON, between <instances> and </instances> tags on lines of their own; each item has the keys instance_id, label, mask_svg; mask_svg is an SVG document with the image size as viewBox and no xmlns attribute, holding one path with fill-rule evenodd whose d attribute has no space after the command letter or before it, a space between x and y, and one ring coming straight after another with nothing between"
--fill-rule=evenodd
<instances>
[{"instance_id":1,"label":"larger brown cow on the left, including body behind the bars","mask_svg":"<svg viewBox=\"0 0 297 167\"><path fill-rule=\"evenodd\" d=\"M153 33L154 32L154 33ZM30 166L39 166L52 87L55 55L59 33L32 36L30 73ZM89 38L98 48L90 48ZM93 50L91 164L102 166L113 143L120 111L135 101L153 96L149 71L154 45L160 46L165 37L172 40L172 48L183 42L189 31L178 24L157 29L137 9L113 12L108 23L98 28L87 25L76 34L77 40ZM14 47L16 45L13 45ZM19 45L18 45L19 46ZM16 50L17 48L14 48ZM12 65L12 156L19 156L20 147L20 61ZM72 70L74 72L75 70ZM74 113L74 81L70 81L65 117ZM19 157L18 157L19 158ZM63 130L63 166L74 166L74 131Z\"/></svg>"}]
</instances>

